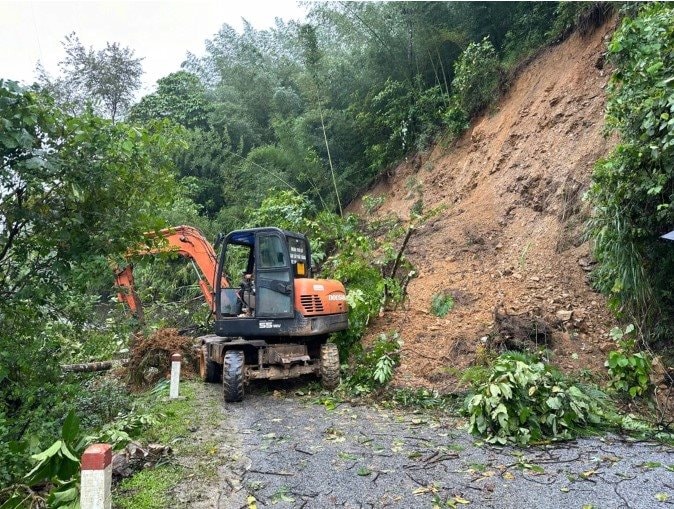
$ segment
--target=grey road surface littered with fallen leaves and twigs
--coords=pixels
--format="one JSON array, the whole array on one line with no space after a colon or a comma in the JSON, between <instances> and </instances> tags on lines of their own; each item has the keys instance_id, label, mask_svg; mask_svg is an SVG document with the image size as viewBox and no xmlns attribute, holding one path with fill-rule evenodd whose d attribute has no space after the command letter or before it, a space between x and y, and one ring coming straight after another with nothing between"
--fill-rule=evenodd
<instances>
[{"instance_id":1,"label":"grey road surface littered with fallen leaves and twigs","mask_svg":"<svg viewBox=\"0 0 674 509\"><path fill-rule=\"evenodd\" d=\"M282 386L275 386L282 387ZM287 386L286 386L287 389ZM528 449L476 441L452 417L315 403L253 388L194 430L217 474L183 481L176 506L278 508L644 508L674 503L674 448L607 436ZM189 464L193 459L178 458Z\"/></svg>"}]
</instances>

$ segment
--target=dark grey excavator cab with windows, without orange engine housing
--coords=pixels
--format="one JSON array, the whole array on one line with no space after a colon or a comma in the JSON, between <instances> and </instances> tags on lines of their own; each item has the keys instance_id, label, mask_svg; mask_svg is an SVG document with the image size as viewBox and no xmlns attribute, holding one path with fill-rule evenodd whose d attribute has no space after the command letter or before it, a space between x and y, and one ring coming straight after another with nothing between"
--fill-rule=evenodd
<instances>
[{"instance_id":1,"label":"dark grey excavator cab with windows, without orange engine housing","mask_svg":"<svg viewBox=\"0 0 674 509\"><path fill-rule=\"evenodd\" d=\"M304 235L278 228L237 230L224 237L222 272L240 274L236 286L215 288L216 319L293 318L294 280L311 277L311 252Z\"/></svg>"}]
</instances>

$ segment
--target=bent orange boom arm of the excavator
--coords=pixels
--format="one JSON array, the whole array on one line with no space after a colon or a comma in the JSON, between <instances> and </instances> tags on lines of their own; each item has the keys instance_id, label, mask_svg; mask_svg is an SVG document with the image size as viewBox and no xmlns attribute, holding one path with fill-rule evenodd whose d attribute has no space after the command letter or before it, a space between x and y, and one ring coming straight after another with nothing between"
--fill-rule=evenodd
<instances>
[{"instance_id":1,"label":"bent orange boom arm of the excavator","mask_svg":"<svg viewBox=\"0 0 674 509\"><path fill-rule=\"evenodd\" d=\"M215 310L215 278L217 274L217 257L215 249L203 234L192 226L175 226L165 228L156 232L145 234L148 239L161 237L163 242L158 247L138 246L127 253L127 258L138 255L152 255L158 253L176 253L188 258L194 265L199 275L199 288L204 295L211 311ZM124 302L131 312L139 318L142 318L142 306L138 295L134 289L133 265L115 270L115 283L120 292L117 294L119 300ZM222 278L221 287L227 288L229 284Z\"/></svg>"}]
</instances>

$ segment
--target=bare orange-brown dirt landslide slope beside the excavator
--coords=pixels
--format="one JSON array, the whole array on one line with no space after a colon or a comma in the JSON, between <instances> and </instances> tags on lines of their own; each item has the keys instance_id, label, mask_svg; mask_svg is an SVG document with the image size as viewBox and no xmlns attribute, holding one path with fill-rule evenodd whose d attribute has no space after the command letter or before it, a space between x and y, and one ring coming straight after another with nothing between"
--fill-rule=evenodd
<instances>
[{"instance_id":1,"label":"bare orange-brown dirt landslide slope beside the excavator","mask_svg":"<svg viewBox=\"0 0 674 509\"><path fill-rule=\"evenodd\" d=\"M458 371L480 355L481 338L498 328L495 309L550 324L552 361L563 369L602 371L613 323L587 284L582 195L613 143L602 135L602 52L612 28L547 50L455 146L401 164L368 193L386 198L378 218L408 218L417 198L425 211L446 207L409 243L419 277L407 309L374 327L401 332L398 383L455 387ZM362 212L362 203L352 210ZM439 319L429 310L443 290L456 306Z\"/></svg>"}]
</instances>

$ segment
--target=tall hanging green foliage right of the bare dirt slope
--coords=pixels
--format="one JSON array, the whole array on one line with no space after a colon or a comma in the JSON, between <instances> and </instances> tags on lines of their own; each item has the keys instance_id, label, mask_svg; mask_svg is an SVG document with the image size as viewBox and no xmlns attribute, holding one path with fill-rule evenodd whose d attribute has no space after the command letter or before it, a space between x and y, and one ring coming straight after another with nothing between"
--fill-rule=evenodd
<instances>
[{"instance_id":1,"label":"tall hanging green foliage right of the bare dirt slope","mask_svg":"<svg viewBox=\"0 0 674 509\"><path fill-rule=\"evenodd\" d=\"M641 4L615 32L606 122L621 142L597 163L588 192L595 285L649 341L674 330L674 249L659 239L674 225L673 55L671 4Z\"/></svg>"}]
</instances>

